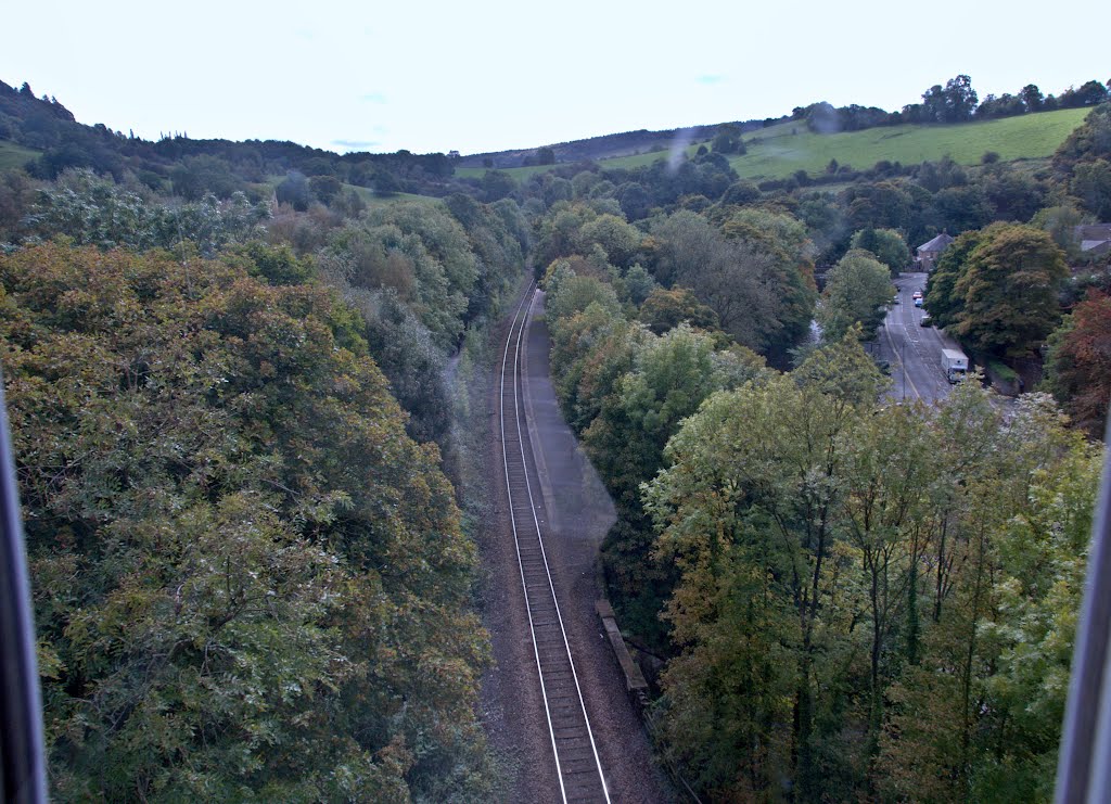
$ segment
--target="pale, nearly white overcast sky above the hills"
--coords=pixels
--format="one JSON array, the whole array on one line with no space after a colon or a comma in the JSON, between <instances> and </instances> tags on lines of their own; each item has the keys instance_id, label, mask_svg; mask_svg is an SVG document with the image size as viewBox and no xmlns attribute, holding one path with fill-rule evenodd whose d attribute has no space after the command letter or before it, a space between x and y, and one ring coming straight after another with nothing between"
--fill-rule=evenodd
<instances>
[{"instance_id":1,"label":"pale, nearly white overcast sky above the hills","mask_svg":"<svg viewBox=\"0 0 1111 804\"><path fill-rule=\"evenodd\" d=\"M1111 79L1099 0L0 0L0 80L137 137L463 154ZM1085 28L1089 20L1093 28Z\"/></svg>"}]
</instances>

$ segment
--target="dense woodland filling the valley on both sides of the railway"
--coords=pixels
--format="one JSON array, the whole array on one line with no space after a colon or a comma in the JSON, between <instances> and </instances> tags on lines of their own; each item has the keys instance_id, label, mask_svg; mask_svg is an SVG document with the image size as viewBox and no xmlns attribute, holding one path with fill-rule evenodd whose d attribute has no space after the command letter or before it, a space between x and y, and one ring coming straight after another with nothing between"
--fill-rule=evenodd
<instances>
[{"instance_id":1,"label":"dense woodland filling the valley on both sides of the railway","mask_svg":"<svg viewBox=\"0 0 1111 804\"><path fill-rule=\"evenodd\" d=\"M0 355L56 797L497 797L462 384L532 265L688 781L1043 800L1111 400L1111 263L1073 238L1111 218L1089 94L1049 163L881 159L831 192L738 180L743 127L518 183L150 143L0 86L0 139L42 151L0 171ZM861 344L942 231L931 315L1043 393L888 400Z\"/></svg>"}]
</instances>

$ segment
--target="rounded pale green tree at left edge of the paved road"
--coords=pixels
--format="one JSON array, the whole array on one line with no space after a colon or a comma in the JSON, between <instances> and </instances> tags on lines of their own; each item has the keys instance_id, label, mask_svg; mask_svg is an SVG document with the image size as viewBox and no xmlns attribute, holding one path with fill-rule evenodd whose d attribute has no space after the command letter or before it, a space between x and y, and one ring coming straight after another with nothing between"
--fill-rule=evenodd
<instances>
[{"instance_id":1,"label":"rounded pale green tree at left edge of the paved road","mask_svg":"<svg viewBox=\"0 0 1111 804\"><path fill-rule=\"evenodd\" d=\"M871 252L854 249L834 265L825 281L818 320L827 341L840 341L853 324L871 338L891 301L891 273Z\"/></svg>"}]
</instances>

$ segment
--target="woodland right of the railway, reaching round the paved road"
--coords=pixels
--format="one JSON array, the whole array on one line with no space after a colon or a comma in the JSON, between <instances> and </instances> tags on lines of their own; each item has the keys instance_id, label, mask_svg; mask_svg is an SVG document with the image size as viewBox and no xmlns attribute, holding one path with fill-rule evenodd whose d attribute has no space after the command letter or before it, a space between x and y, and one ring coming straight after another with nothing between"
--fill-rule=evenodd
<instances>
[{"instance_id":1,"label":"woodland right of the railway, reaching round the paved road","mask_svg":"<svg viewBox=\"0 0 1111 804\"><path fill-rule=\"evenodd\" d=\"M645 179L638 220L614 172L516 191L548 265L557 394L618 509L608 590L665 661L663 750L709 800L1050 795L1103 455L1075 425L1098 433L1111 376L1105 258L1065 264L1095 211L1074 165L1107 159L1108 108L1039 177L947 160L839 195L734 181L717 200ZM1048 341L1071 421L1045 394L1004 415L975 382L890 404L860 346L908 232L970 198L982 218L928 300L987 356Z\"/></svg>"}]
</instances>

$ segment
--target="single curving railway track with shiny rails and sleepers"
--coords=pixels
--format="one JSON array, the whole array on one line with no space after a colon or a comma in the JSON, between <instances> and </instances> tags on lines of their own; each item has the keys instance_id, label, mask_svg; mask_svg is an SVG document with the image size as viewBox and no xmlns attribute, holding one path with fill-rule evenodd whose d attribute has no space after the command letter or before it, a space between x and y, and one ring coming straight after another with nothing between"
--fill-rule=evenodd
<instances>
[{"instance_id":1,"label":"single curving railway track with shiny rails and sleepers","mask_svg":"<svg viewBox=\"0 0 1111 804\"><path fill-rule=\"evenodd\" d=\"M498 418L506 493L561 801L609 802L609 788L590 730L537 516L540 490L532 481L532 450L527 439L528 423L521 399L521 341L534 288L536 283L529 287L517 308L501 363Z\"/></svg>"}]
</instances>

